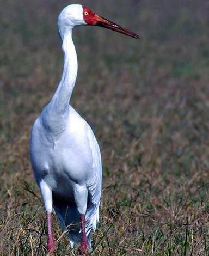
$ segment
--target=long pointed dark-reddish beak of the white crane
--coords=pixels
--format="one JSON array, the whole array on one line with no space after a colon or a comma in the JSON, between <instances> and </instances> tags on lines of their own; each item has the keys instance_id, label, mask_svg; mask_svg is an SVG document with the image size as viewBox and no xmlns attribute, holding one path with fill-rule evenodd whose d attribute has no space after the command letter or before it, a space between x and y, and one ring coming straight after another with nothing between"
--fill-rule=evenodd
<instances>
[{"instance_id":1,"label":"long pointed dark-reddish beak of the white crane","mask_svg":"<svg viewBox=\"0 0 209 256\"><path fill-rule=\"evenodd\" d=\"M116 23L113 23L112 21L109 21L97 14L94 14L94 20L96 21L96 23L95 23L96 26L108 28L113 31L119 32L121 34L131 36L132 38L139 39L139 36L137 34L131 32L127 28L122 28L119 25L117 25Z\"/></svg>"}]
</instances>

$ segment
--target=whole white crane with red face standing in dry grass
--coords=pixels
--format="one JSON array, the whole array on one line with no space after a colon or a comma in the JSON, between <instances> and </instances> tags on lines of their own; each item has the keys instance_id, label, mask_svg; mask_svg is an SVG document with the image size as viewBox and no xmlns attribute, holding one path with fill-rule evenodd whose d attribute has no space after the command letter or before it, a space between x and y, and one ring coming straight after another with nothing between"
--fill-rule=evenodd
<instances>
[{"instance_id":1,"label":"whole white crane with red face standing in dry grass","mask_svg":"<svg viewBox=\"0 0 209 256\"><path fill-rule=\"evenodd\" d=\"M77 55L72 29L77 25L97 25L138 38L88 8L71 4L58 17L64 51L62 79L52 100L35 120L30 138L30 160L47 212L47 249L52 251L52 206L63 230L69 227L73 248L91 249L91 231L99 221L102 184L100 148L87 122L69 105L77 77Z\"/></svg>"}]
</instances>

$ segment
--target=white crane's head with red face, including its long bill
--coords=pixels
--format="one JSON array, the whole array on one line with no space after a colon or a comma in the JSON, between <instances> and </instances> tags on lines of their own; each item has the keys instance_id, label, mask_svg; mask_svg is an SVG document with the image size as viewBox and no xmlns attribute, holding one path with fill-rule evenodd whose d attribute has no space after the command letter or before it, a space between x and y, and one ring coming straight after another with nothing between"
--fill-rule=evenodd
<instances>
[{"instance_id":1,"label":"white crane's head with red face, including its long bill","mask_svg":"<svg viewBox=\"0 0 209 256\"><path fill-rule=\"evenodd\" d=\"M61 38L63 38L64 33L69 28L72 29L77 25L100 26L139 39L137 34L93 13L87 7L80 4L70 4L62 10L58 17L58 28Z\"/></svg>"}]
</instances>

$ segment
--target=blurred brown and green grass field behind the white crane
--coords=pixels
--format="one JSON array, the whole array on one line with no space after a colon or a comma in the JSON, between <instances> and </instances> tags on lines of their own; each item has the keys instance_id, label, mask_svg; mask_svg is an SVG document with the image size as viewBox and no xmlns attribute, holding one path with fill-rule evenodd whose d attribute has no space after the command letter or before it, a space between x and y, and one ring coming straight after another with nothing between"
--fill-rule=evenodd
<instances>
[{"instance_id":1,"label":"blurred brown and green grass field behind the white crane","mask_svg":"<svg viewBox=\"0 0 209 256\"><path fill-rule=\"evenodd\" d=\"M73 1L142 35L75 29L71 105L103 160L93 255L209 255L207 1ZM71 1L0 9L0 255L45 255L45 211L29 132L62 74L59 11ZM56 255L70 255L53 216ZM76 251L75 251L76 254Z\"/></svg>"}]
</instances>

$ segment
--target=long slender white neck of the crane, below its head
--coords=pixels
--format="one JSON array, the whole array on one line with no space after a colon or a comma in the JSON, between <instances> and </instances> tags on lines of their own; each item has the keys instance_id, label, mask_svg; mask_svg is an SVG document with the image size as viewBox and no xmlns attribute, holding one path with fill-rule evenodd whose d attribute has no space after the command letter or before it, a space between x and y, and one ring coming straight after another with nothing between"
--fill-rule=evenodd
<instances>
[{"instance_id":1,"label":"long slender white neck of the crane, below its head","mask_svg":"<svg viewBox=\"0 0 209 256\"><path fill-rule=\"evenodd\" d=\"M59 113L64 112L66 107L69 106L78 71L77 54L72 41L72 29L65 32L62 47L64 51L63 75L50 102L54 111Z\"/></svg>"}]
</instances>

